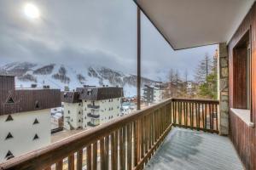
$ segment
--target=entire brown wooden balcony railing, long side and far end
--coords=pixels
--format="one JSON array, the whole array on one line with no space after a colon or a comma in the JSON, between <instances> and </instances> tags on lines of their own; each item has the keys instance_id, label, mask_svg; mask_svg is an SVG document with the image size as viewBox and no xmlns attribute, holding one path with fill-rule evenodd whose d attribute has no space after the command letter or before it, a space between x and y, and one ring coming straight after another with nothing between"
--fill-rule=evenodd
<instances>
[{"instance_id":1,"label":"entire brown wooden balcony railing, long side and far end","mask_svg":"<svg viewBox=\"0 0 256 170\"><path fill-rule=\"evenodd\" d=\"M167 99L10 159L0 169L143 169L172 125L218 132L217 106L212 100Z\"/></svg>"}]
</instances>

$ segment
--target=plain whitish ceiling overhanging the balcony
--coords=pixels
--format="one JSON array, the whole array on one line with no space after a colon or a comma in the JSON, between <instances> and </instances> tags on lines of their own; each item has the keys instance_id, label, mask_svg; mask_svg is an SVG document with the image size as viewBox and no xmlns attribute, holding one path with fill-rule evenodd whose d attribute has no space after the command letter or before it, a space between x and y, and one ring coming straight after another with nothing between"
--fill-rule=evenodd
<instances>
[{"instance_id":1,"label":"plain whitish ceiling overhanging the balcony","mask_svg":"<svg viewBox=\"0 0 256 170\"><path fill-rule=\"evenodd\" d=\"M229 42L255 0L135 0L174 49Z\"/></svg>"}]
</instances>

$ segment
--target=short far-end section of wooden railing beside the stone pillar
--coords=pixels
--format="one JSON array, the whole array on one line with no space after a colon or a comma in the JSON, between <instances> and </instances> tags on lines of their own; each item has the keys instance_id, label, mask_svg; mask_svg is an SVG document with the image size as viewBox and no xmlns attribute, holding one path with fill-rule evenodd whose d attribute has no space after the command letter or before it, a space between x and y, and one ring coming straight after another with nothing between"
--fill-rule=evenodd
<instances>
[{"instance_id":1,"label":"short far-end section of wooden railing beside the stone pillar","mask_svg":"<svg viewBox=\"0 0 256 170\"><path fill-rule=\"evenodd\" d=\"M218 133L218 100L172 99L174 126Z\"/></svg>"}]
</instances>

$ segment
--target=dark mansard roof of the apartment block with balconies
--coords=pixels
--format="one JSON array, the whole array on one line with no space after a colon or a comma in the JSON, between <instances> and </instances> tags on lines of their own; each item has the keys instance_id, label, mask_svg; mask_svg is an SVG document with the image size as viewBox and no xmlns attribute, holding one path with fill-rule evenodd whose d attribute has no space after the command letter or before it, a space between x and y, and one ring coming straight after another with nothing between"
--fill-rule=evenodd
<instances>
[{"instance_id":1,"label":"dark mansard roof of the apartment block with balconies","mask_svg":"<svg viewBox=\"0 0 256 170\"><path fill-rule=\"evenodd\" d=\"M77 88L76 92L62 93L61 100L67 103L77 103L82 99L102 100L123 97L123 88L117 87L85 87Z\"/></svg>"}]
</instances>

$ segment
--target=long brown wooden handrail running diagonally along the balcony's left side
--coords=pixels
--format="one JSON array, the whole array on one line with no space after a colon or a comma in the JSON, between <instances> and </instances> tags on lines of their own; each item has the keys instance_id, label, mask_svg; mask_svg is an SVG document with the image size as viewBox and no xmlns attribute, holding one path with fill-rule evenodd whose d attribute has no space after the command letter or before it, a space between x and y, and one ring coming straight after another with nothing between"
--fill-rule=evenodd
<instances>
[{"instance_id":1,"label":"long brown wooden handrail running diagonally along the balcony's left side","mask_svg":"<svg viewBox=\"0 0 256 170\"><path fill-rule=\"evenodd\" d=\"M74 134L67 139L50 144L39 150L34 150L25 155L15 157L9 161L0 164L2 169L42 169L56 161L64 159L77 150L96 142L98 139L107 136L113 131L124 127L127 123L137 121L140 117L148 116L149 113L159 110L172 102L172 99L166 99L157 105L149 106L142 111L136 111L133 114L119 117L113 121L104 123L100 126L91 128L87 131Z\"/></svg>"}]
</instances>

